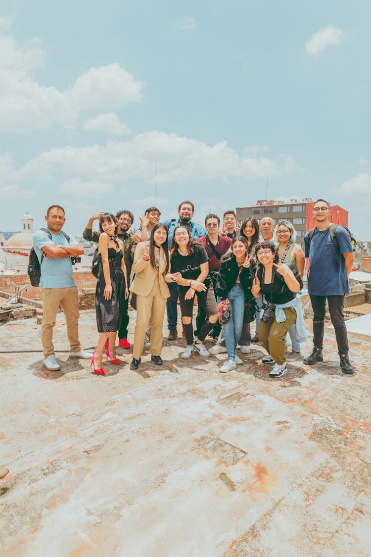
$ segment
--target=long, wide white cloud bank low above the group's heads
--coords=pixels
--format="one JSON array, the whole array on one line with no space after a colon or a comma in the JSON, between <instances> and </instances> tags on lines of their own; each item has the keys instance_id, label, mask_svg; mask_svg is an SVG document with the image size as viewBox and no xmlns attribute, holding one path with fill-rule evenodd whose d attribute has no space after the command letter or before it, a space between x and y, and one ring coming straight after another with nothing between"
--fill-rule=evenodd
<instances>
[{"instance_id":1,"label":"long, wide white cloud bank low above the group's heads","mask_svg":"<svg viewBox=\"0 0 371 557\"><path fill-rule=\"evenodd\" d=\"M13 171L13 180L50 180L56 173L92 182L120 183L132 179L161 185L186 180L250 180L300 170L287 154L275 158L241 157L226 141L207 145L196 139L160 131L146 131L130 141L107 141L105 145L65 146L43 152Z\"/></svg>"}]
</instances>

